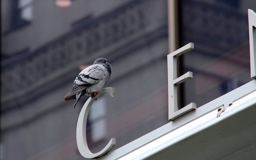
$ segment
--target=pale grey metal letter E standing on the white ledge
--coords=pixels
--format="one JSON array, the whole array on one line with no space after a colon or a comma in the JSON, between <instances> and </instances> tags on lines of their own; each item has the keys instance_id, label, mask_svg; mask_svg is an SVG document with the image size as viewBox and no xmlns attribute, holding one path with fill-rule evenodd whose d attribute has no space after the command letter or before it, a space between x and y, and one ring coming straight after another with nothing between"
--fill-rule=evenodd
<instances>
[{"instance_id":1,"label":"pale grey metal letter E standing on the white ledge","mask_svg":"<svg viewBox=\"0 0 256 160\"><path fill-rule=\"evenodd\" d=\"M187 72L182 76L177 78L177 57L181 56L185 52L194 49L194 43L189 43L186 46L170 53L167 55L167 65L168 65L168 118L169 120L175 120L183 114L196 109L195 103L190 103L187 106L178 109L178 95L177 86L188 79L193 78L192 72Z\"/></svg>"}]
</instances>

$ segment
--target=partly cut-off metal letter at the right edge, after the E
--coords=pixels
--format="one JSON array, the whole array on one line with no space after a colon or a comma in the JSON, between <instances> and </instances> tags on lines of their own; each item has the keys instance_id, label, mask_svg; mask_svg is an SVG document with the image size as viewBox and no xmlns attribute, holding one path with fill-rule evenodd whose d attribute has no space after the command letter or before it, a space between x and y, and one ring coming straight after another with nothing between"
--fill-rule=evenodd
<instances>
[{"instance_id":1,"label":"partly cut-off metal letter at the right edge, after the E","mask_svg":"<svg viewBox=\"0 0 256 160\"><path fill-rule=\"evenodd\" d=\"M248 9L251 78L256 78L256 13Z\"/></svg>"}]
</instances>

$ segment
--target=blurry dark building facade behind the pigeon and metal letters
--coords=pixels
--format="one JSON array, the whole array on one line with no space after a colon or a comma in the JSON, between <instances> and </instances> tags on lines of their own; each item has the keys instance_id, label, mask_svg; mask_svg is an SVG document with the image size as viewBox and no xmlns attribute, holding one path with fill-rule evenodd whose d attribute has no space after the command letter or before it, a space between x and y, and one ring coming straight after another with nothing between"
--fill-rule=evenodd
<instances>
[{"instance_id":1,"label":"blurry dark building facade behind the pigeon and metal letters","mask_svg":"<svg viewBox=\"0 0 256 160\"><path fill-rule=\"evenodd\" d=\"M252 0L2 0L1 160L82 160L76 123L88 97L63 102L80 65L105 57L115 98L94 102L92 152L125 144L168 123L168 26L195 49L180 58L180 107L197 107L249 82L247 9ZM170 3L169 3L170 4ZM177 14L175 23L169 13Z\"/></svg>"}]
</instances>

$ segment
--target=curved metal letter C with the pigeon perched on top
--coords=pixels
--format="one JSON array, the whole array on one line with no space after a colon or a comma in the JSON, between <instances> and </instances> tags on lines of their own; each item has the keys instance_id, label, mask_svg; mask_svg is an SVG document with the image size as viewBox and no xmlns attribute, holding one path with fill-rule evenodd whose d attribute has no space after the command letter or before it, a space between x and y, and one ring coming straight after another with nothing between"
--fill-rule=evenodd
<instances>
[{"instance_id":1,"label":"curved metal letter C with the pigeon perched on top","mask_svg":"<svg viewBox=\"0 0 256 160\"><path fill-rule=\"evenodd\" d=\"M86 140L86 122L89 114L90 107L92 106L92 103L102 94L108 93L110 96L114 97L114 88L103 88L100 93L98 93L96 96L88 98L88 100L85 102L82 110L80 111L78 122L76 126L76 142L78 146L78 150L82 156L85 158L96 158L103 156L104 154L110 152L116 145L116 139L111 138L111 140L108 142L106 147L104 147L100 152L98 153L92 153L90 149L88 148L87 140Z\"/></svg>"}]
</instances>

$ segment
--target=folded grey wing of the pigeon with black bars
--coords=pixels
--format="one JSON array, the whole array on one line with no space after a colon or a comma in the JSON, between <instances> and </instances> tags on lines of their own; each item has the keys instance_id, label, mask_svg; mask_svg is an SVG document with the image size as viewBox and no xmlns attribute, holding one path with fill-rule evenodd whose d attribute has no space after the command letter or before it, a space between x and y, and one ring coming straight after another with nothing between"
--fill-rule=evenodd
<instances>
[{"instance_id":1,"label":"folded grey wing of the pigeon with black bars","mask_svg":"<svg viewBox=\"0 0 256 160\"><path fill-rule=\"evenodd\" d=\"M65 96L64 100L72 100L75 98L75 94L86 90L89 86L97 84L105 76L104 66L100 64L93 64L82 70L76 77L72 90ZM70 97L72 97L70 99Z\"/></svg>"}]
</instances>

